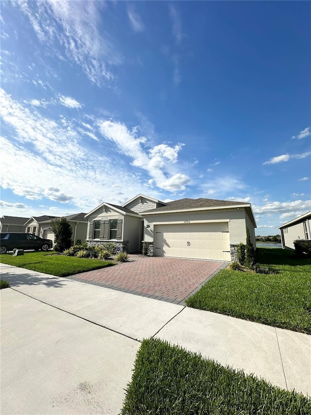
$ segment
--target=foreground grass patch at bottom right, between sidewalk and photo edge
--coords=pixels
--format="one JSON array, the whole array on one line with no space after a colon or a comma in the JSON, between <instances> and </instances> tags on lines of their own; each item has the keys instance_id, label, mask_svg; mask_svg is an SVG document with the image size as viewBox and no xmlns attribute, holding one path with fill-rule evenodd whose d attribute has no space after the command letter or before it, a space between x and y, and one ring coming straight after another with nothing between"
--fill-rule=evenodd
<instances>
[{"instance_id":1,"label":"foreground grass patch at bottom right, between sidewalk and photo edge","mask_svg":"<svg viewBox=\"0 0 311 415\"><path fill-rule=\"evenodd\" d=\"M122 415L307 415L311 400L160 340L144 340Z\"/></svg>"}]
</instances>

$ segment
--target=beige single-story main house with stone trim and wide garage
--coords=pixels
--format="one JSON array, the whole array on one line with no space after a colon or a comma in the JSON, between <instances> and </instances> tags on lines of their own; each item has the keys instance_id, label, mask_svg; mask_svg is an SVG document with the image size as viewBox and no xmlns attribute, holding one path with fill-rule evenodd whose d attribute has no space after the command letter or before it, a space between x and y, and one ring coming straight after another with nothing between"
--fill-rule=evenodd
<instances>
[{"instance_id":1,"label":"beige single-story main house with stone trim and wide garage","mask_svg":"<svg viewBox=\"0 0 311 415\"><path fill-rule=\"evenodd\" d=\"M155 256L231 261L246 242L246 226L256 248L256 221L250 203L184 198L171 202L138 195L122 206L102 203L86 215L87 242L115 242L137 252L142 241Z\"/></svg>"}]
</instances>

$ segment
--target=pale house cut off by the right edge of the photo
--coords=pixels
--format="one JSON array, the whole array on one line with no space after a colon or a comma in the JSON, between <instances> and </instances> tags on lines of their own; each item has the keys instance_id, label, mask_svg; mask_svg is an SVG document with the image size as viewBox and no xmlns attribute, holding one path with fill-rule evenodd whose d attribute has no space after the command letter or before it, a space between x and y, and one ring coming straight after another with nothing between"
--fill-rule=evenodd
<instances>
[{"instance_id":1,"label":"pale house cut off by the right edge of the photo","mask_svg":"<svg viewBox=\"0 0 311 415\"><path fill-rule=\"evenodd\" d=\"M279 226L282 248L295 249L296 239L311 240L311 211Z\"/></svg>"}]
</instances>

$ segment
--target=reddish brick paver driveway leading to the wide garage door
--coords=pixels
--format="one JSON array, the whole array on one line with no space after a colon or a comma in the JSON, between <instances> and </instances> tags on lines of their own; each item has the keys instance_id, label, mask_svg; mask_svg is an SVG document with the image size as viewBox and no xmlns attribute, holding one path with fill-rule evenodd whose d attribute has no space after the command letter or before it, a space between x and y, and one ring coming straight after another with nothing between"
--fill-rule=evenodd
<instances>
[{"instance_id":1,"label":"reddish brick paver driveway leading to the wide garage door","mask_svg":"<svg viewBox=\"0 0 311 415\"><path fill-rule=\"evenodd\" d=\"M129 255L130 262L69 278L158 300L180 303L227 263Z\"/></svg>"}]
</instances>

